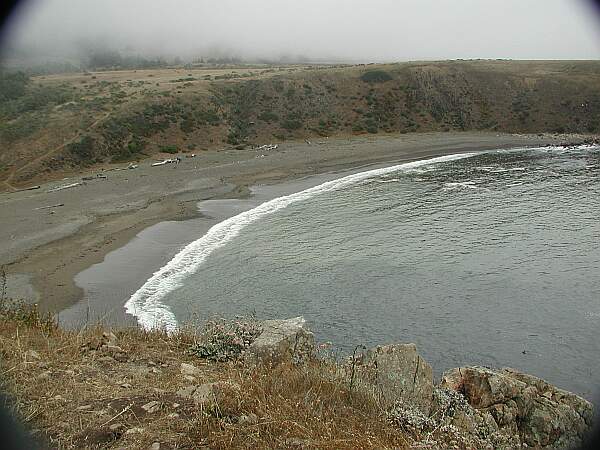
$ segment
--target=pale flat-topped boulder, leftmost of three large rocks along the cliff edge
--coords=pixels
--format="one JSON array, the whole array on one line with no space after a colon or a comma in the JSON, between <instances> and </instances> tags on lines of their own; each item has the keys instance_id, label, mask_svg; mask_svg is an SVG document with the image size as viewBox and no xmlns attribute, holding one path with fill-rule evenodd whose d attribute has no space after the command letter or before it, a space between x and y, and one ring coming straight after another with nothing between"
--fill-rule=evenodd
<instances>
[{"instance_id":1,"label":"pale flat-topped boulder, leftmost of three large rocks along the cliff edge","mask_svg":"<svg viewBox=\"0 0 600 450\"><path fill-rule=\"evenodd\" d=\"M304 317L264 321L262 332L250 344L246 356L271 365L306 362L314 354L315 338L305 324Z\"/></svg>"}]
</instances>

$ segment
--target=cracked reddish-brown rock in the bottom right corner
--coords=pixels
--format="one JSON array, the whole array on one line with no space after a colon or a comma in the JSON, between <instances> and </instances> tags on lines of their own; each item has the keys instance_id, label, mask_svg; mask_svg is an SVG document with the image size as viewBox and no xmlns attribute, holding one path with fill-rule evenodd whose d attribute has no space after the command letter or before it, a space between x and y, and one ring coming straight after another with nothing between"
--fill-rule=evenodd
<instances>
[{"instance_id":1,"label":"cracked reddish-brown rock in the bottom right corner","mask_svg":"<svg viewBox=\"0 0 600 450\"><path fill-rule=\"evenodd\" d=\"M528 446L573 448L591 430L590 402L514 369L452 369L443 375L441 387L461 393L476 410L472 416L490 415L492 428Z\"/></svg>"}]
</instances>

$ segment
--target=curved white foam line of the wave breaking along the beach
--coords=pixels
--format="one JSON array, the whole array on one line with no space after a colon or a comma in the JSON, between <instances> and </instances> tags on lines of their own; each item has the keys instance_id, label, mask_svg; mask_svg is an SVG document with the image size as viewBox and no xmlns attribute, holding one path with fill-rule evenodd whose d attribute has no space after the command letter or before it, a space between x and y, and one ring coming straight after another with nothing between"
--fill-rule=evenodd
<instances>
[{"instance_id":1,"label":"curved white foam line of the wave breaking along the beach","mask_svg":"<svg viewBox=\"0 0 600 450\"><path fill-rule=\"evenodd\" d=\"M240 213L211 227L200 239L188 244L166 265L156 271L125 303L125 311L135 316L145 329L164 329L173 332L177 329L177 319L168 305L161 299L183 285L183 281L198 270L198 267L216 249L223 247L237 236L246 226L258 219L273 214L287 206L307 200L325 192L345 188L367 178L384 175L398 170L410 170L427 164L468 158L477 153L460 153L413 161L381 169L348 175L294 194L269 200L251 210Z\"/></svg>"}]
</instances>

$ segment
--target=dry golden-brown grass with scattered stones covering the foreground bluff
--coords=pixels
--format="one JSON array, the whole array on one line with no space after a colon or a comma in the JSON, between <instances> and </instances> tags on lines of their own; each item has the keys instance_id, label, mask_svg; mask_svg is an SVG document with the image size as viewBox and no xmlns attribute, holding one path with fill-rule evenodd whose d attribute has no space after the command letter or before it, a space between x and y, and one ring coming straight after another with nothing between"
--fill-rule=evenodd
<instances>
[{"instance_id":1,"label":"dry golden-brown grass with scattered stones covering the foreground bluff","mask_svg":"<svg viewBox=\"0 0 600 450\"><path fill-rule=\"evenodd\" d=\"M29 309L0 314L7 406L51 448L408 446L376 401L351 391L332 364L208 363L189 354L192 332L128 329L107 346L104 331L66 332ZM198 372L182 374L182 362ZM214 381L227 383L213 406L176 394ZM142 406L152 401L148 412Z\"/></svg>"}]
</instances>

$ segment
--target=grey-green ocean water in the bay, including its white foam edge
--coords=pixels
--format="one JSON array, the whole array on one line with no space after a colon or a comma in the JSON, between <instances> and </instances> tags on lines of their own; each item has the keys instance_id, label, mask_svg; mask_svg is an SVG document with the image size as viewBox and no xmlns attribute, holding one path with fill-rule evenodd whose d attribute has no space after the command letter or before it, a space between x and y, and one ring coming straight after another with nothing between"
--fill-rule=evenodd
<instances>
[{"instance_id":1,"label":"grey-green ocean water in the bay, including its white foam edge","mask_svg":"<svg viewBox=\"0 0 600 450\"><path fill-rule=\"evenodd\" d=\"M127 302L146 327L303 315L321 342L414 342L437 374L600 388L600 147L377 169L214 226Z\"/></svg>"}]
</instances>

